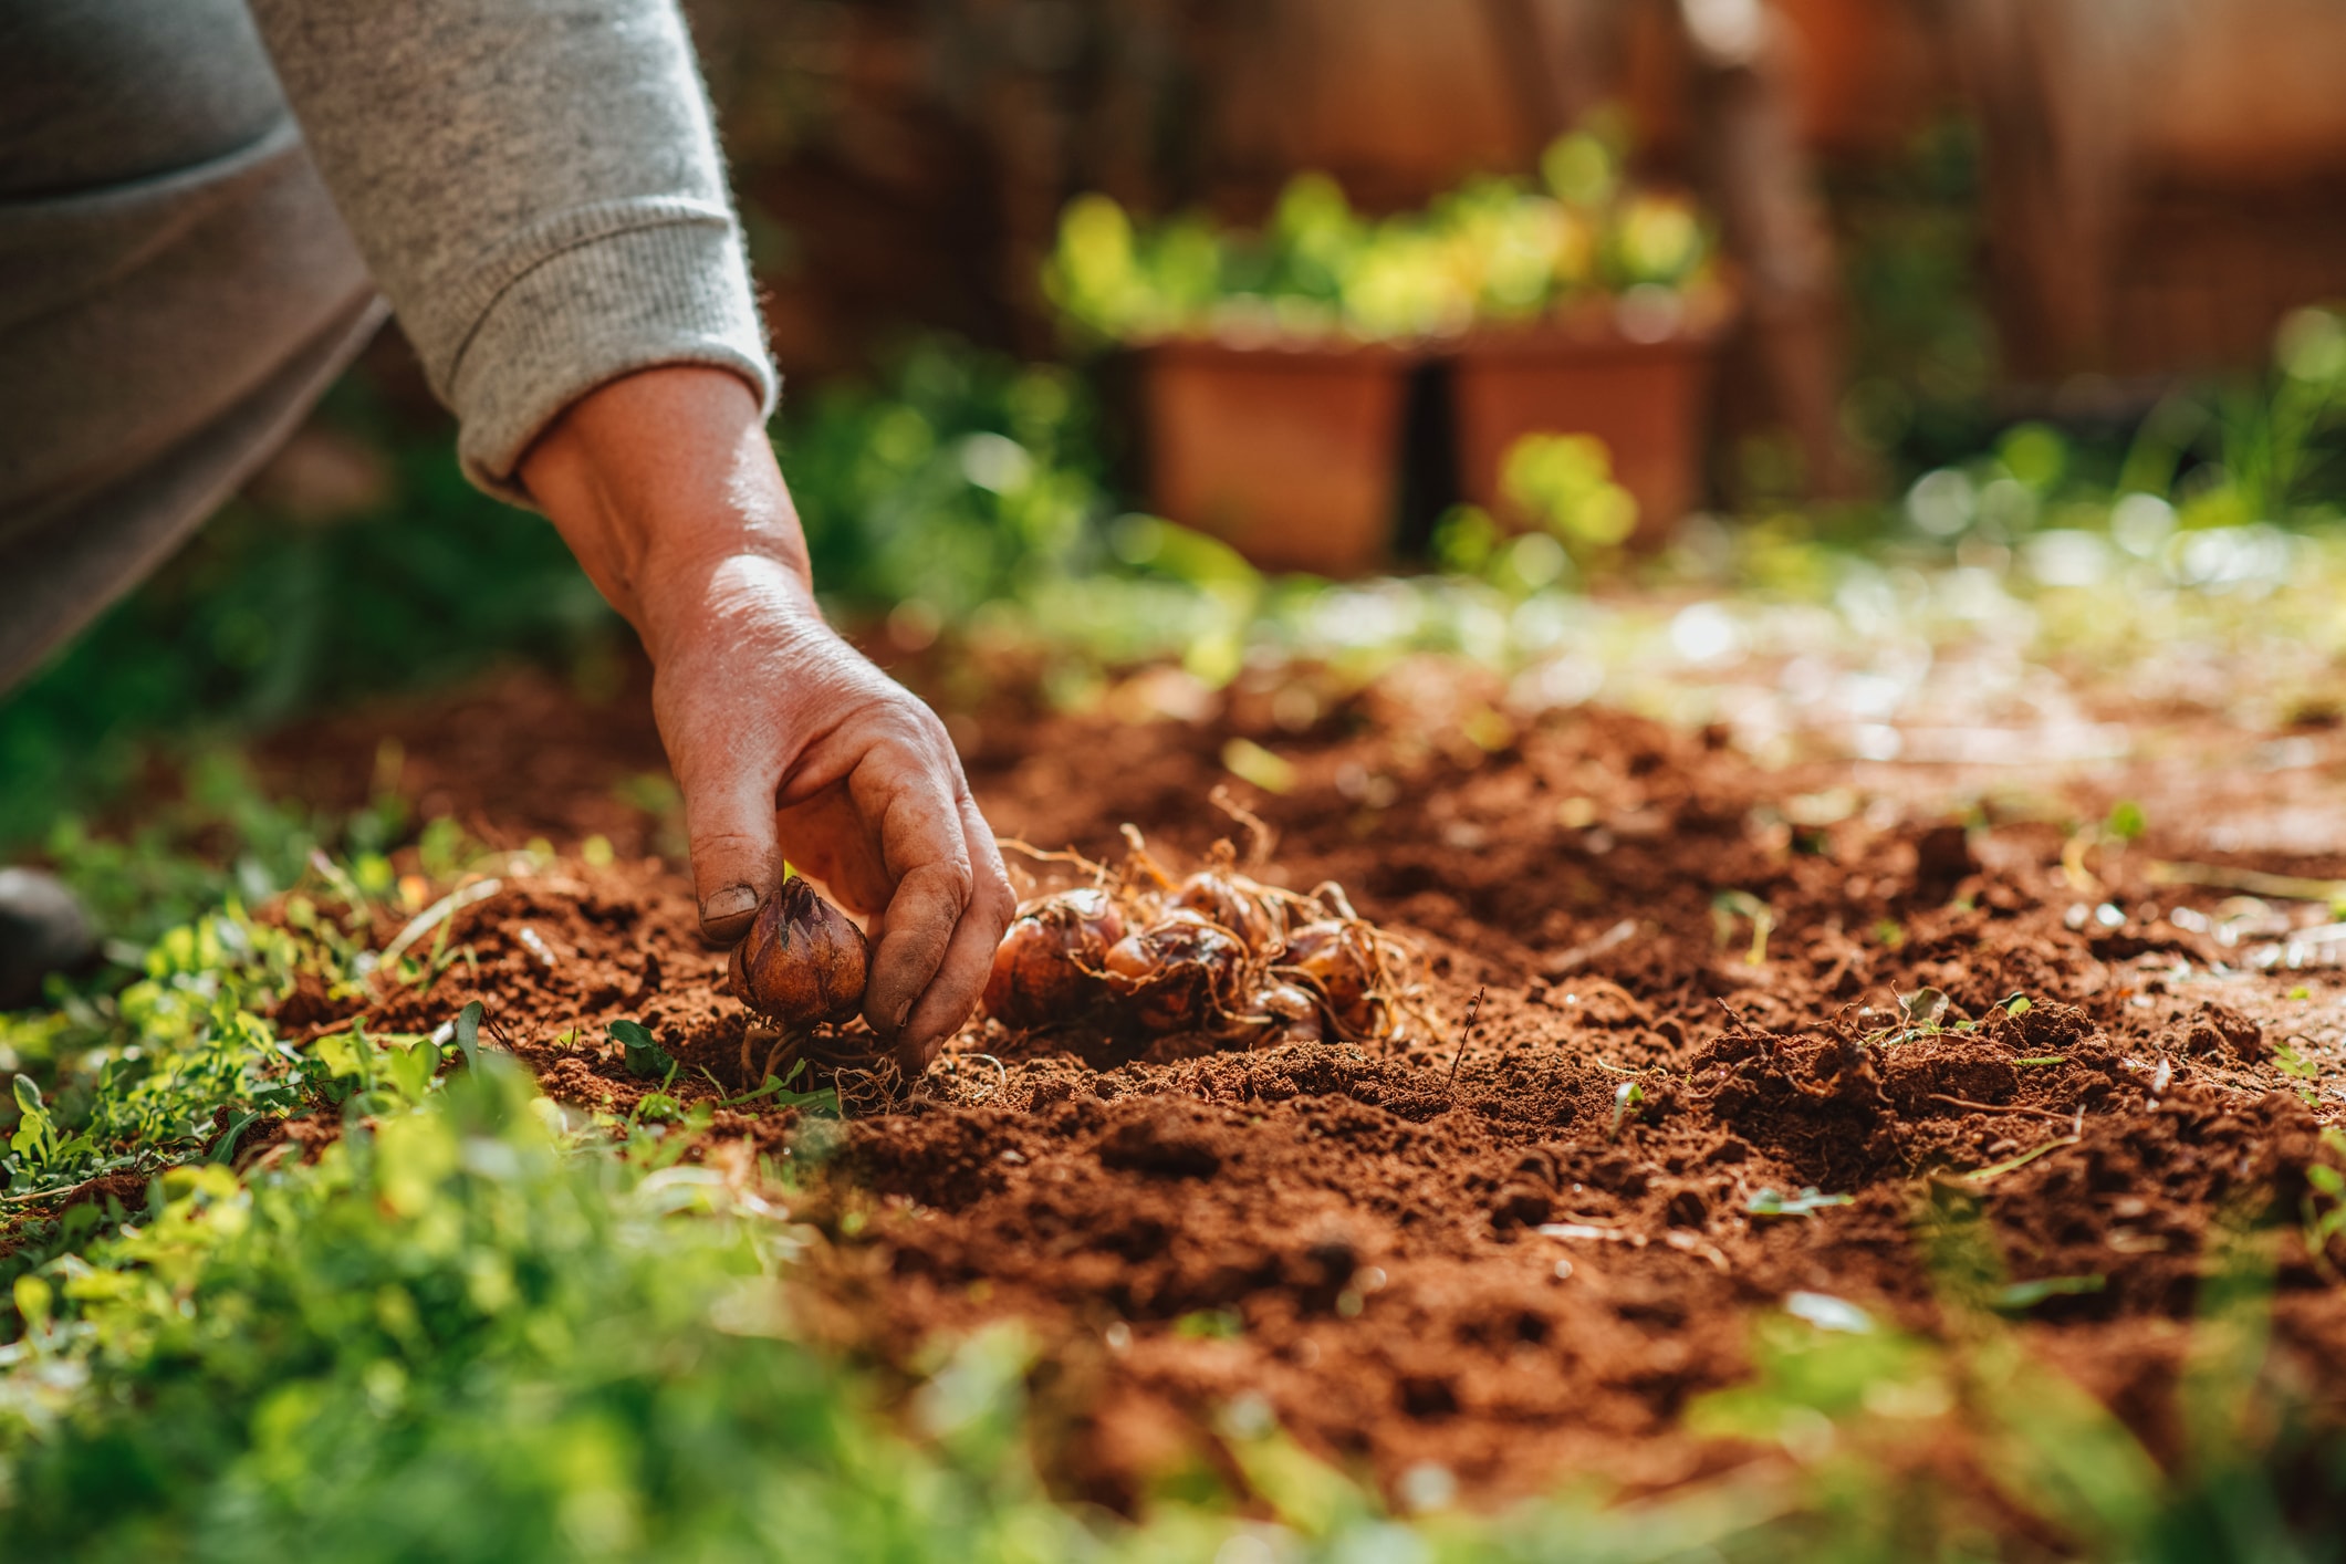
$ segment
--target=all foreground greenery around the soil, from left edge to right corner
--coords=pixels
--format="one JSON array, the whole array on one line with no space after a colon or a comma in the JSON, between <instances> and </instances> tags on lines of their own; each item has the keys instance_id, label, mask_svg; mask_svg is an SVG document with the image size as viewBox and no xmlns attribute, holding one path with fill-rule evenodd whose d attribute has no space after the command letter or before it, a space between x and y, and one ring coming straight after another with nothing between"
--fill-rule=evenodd
<instances>
[{"instance_id":1,"label":"all foreground greenery around the soil, from left edge to right corner","mask_svg":"<svg viewBox=\"0 0 2346 1564\"><path fill-rule=\"evenodd\" d=\"M465 844L434 842L462 872ZM1455 1477L1412 1468L1403 1519L1239 1398L1218 1423L1234 1468L1168 1475L1140 1526L1084 1519L1030 1470L1021 1332L938 1344L908 1400L791 1339L791 1262L823 1238L774 1205L788 1184L685 1161L718 1100L685 1102L673 1062L631 1118L572 1128L483 1046L476 1004L434 1036L352 1025L284 1046L260 1013L296 975L350 992L392 968L359 950L359 865L310 872L282 922L230 903L164 933L122 992L0 1022L19 1072L9 1203L136 1175L7 1233L0 1536L21 1557L1171 1562L1246 1536L1293 1559L1760 1564L1987 1557L2018 1510L2086 1557L2294 1559L2278 1484L2346 1482L2264 1383L2269 1231L2226 1224L2210 1245L2179 1393L2191 1461L2161 1473L2003 1322L2102 1278L2013 1280L1992 1168L1935 1182L1919 1212L1935 1334L1792 1294L1760 1325L1757 1376L1691 1409L1696 1433L1783 1447L1790 1482L1619 1510L1577 1491L1487 1517L1445 1512ZM1903 1008L1910 1025L1945 1013L1935 994ZM657 1050L631 1022L612 1036ZM795 1076L725 1107L838 1109ZM1642 1107L1621 1081L1614 1126ZM338 1114L340 1142L237 1177L237 1137L300 1109ZM800 1161L819 1156L814 1130ZM2339 1163L2330 1137L2306 1175L2313 1254L2346 1226ZM1767 1191L1750 1210L1844 1201ZM1236 1311L1175 1322L1199 1348L1243 1332ZM2008 1510L1903 1475L1900 1451L1950 1437ZM1232 1470L1255 1519L1234 1515Z\"/></svg>"}]
</instances>

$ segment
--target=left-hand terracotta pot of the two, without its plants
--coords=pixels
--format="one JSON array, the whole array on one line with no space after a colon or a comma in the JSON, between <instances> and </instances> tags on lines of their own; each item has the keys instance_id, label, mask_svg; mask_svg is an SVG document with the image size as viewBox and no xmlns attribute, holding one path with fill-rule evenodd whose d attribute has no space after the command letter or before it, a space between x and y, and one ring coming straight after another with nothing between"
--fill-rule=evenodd
<instances>
[{"instance_id":1,"label":"left-hand terracotta pot of the two, without its plants","mask_svg":"<svg viewBox=\"0 0 2346 1564\"><path fill-rule=\"evenodd\" d=\"M1394 544L1410 354L1159 342L1140 354L1150 497L1264 570L1363 574Z\"/></svg>"}]
</instances>

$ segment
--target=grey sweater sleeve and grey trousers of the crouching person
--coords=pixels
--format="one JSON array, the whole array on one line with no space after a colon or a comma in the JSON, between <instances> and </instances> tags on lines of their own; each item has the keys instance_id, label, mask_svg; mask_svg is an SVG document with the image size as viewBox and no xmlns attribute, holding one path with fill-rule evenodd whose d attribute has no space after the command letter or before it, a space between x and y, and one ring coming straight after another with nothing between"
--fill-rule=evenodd
<instances>
[{"instance_id":1,"label":"grey sweater sleeve and grey trousers of the crouching person","mask_svg":"<svg viewBox=\"0 0 2346 1564\"><path fill-rule=\"evenodd\" d=\"M0 687L249 476L378 291L511 499L636 368L772 408L673 0L0 0Z\"/></svg>"}]
</instances>

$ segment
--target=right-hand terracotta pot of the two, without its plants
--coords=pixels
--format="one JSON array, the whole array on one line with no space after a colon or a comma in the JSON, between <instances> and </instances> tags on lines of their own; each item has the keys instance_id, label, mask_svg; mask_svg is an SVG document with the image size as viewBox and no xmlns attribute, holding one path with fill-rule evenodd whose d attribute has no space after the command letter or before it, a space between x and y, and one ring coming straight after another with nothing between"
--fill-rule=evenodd
<instances>
[{"instance_id":1,"label":"right-hand terracotta pot of the two, without its plants","mask_svg":"<svg viewBox=\"0 0 2346 1564\"><path fill-rule=\"evenodd\" d=\"M1713 331L1661 342L1633 342L1609 326L1471 338L1452 368L1459 488L1504 523L1537 525L1499 490L1508 448L1525 434L1593 434L1612 455L1614 483L1638 499L1633 544L1656 544L1701 492L1715 368Z\"/></svg>"}]
</instances>

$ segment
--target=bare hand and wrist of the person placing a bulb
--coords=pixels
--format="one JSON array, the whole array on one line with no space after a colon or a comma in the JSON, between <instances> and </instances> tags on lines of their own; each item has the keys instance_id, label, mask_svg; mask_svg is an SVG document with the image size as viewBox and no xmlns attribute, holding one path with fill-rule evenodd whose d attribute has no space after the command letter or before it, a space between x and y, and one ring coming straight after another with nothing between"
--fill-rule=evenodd
<instances>
[{"instance_id":1,"label":"bare hand and wrist of the person placing a bulb","mask_svg":"<svg viewBox=\"0 0 2346 1564\"><path fill-rule=\"evenodd\" d=\"M823 624L748 385L615 380L521 481L652 654L701 933L741 938L786 858L821 879L868 917L863 1018L920 1074L976 1004L1013 896L936 713Z\"/></svg>"}]
</instances>

